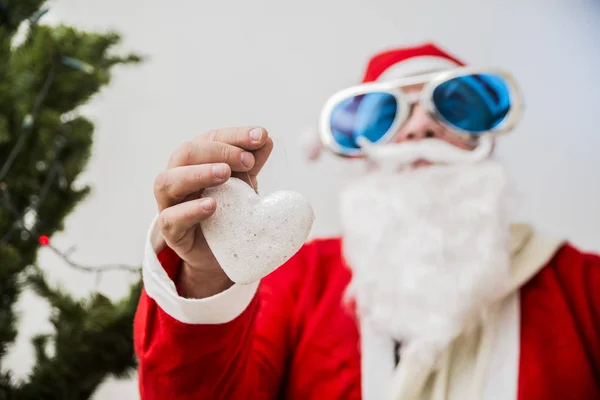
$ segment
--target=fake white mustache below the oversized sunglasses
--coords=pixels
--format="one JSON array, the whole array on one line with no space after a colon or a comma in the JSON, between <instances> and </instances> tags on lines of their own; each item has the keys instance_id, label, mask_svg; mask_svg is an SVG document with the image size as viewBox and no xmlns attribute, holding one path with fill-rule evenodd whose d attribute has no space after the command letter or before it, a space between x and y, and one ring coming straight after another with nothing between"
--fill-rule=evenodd
<instances>
[{"instance_id":1,"label":"fake white mustache below the oversized sunglasses","mask_svg":"<svg viewBox=\"0 0 600 400\"><path fill-rule=\"evenodd\" d=\"M426 139L405 143L375 144L364 136L357 138L365 156L383 169L398 169L418 160L439 164L474 163L487 158L492 152L493 141L482 137L473 150L465 150L440 139Z\"/></svg>"}]
</instances>

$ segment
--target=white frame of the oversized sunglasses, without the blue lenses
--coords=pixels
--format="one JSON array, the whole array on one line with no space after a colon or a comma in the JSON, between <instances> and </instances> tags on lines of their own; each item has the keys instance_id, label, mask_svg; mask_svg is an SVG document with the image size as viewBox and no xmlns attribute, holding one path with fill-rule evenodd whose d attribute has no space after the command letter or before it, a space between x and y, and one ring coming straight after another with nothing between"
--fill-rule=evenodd
<instances>
[{"instance_id":1,"label":"white frame of the oversized sunglasses, without the blue lenses","mask_svg":"<svg viewBox=\"0 0 600 400\"><path fill-rule=\"evenodd\" d=\"M511 99L510 110L504 120L494 127L492 130L478 132L476 135L448 122L437 110L433 102L433 91L442 83L466 75L476 74L493 74L500 76L506 82L509 96ZM425 84L423 90L418 94L418 98L414 95L406 94L402 89L407 86ZM435 120L442 123L452 133L465 138L473 139L481 136L496 137L509 133L520 121L523 114L523 99L521 91L512 74L497 68L475 68L475 67L459 67L451 70L438 71L423 75L415 75L410 77L402 77L382 82L366 83L352 86L333 94L323 105L318 122L319 138L323 146L334 154L342 157L363 157L362 149L348 149L340 146L331 133L331 114L333 110L344 100L367 94L372 92L383 92L394 96L397 103L397 112L392 125L388 131L379 139L377 144L389 142L395 135L398 129L407 121L411 107L410 105L418 102L427 113Z\"/></svg>"}]
</instances>

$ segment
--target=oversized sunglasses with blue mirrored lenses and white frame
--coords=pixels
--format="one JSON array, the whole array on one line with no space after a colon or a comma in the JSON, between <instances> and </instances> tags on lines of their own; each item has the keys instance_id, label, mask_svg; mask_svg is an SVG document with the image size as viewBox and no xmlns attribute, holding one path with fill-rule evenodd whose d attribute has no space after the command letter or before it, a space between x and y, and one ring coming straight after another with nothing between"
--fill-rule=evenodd
<instances>
[{"instance_id":1,"label":"oversized sunglasses with blue mirrored lenses and white frame","mask_svg":"<svg viewBox=\"0 0 600 400\"><path fill-rule=\"evenodd\" d=\"M418 95L404 91L424 84ZM326 147L337 154L361 154L357 138L390 140L418 102L452 132L477 137L510 131L521 113L521 98L506 72L458 68L436 74L365 84L332 96L323 107L319 132Z\"/></svg>"}]
</instances>

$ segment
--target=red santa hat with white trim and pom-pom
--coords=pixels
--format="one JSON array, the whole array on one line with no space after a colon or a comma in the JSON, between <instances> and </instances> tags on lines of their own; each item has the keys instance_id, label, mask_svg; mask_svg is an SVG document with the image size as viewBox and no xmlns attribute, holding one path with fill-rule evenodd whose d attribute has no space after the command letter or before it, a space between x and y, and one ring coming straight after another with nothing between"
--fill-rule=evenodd
<instances>
[{"instance_id":1,"label":"red santa hat with white trim and pom-pom","mask_svg":"<svg viewBox=\"0 0 600 400\"><path fill-rule=\"evenodd\" d=\"M433 43L387 50L374 55L367 64L363 83L418 75L432 71L457 68L465 63L446 53ZM303 135L305 151L311 160L317 159L322 149L318 135L308 130Z\"/></svg>"}]
</instances>

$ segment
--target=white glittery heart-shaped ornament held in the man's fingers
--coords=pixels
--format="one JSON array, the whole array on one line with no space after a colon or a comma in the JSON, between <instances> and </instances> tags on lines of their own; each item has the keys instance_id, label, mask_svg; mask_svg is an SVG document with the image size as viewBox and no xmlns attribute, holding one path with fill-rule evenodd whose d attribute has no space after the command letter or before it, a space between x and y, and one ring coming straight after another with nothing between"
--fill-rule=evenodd
<instances>
[{"instance_id":1,"label":"white glittery heart-shaped ornament held in the man's fingers","mask_svg":"<svg viewBox=\"0 0 600 400\"><path fill-rule=\"evenodd\" d=\"M280 191L260 198L237 178L204 196L217 201L217 210L201 224L202 232L223 271L239 284L258 281L296 254L314 221L303 195Z\"/></svg>"}]
</instances>

